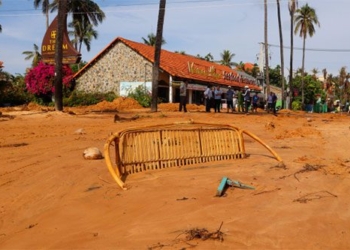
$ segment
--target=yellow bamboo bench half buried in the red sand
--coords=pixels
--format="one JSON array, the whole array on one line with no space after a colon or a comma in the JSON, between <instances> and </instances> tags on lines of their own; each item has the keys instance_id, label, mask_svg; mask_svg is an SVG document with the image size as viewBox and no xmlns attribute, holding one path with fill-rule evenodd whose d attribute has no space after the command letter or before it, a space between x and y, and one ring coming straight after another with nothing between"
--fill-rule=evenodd
<instances>
[{"instance_id":1,"label":"yellow bamboo bench half buried in the red sand","mask_svg":"<svg viewBox=\"0 0 350 250\"><path fill-rule=\"evenodd\" d=\"M104 146L109 172L122 189L130 174L203 162L245 158L243 134L281 158L257 136L231 125L172 123L130 128L111 135ZM111 146L115 147L115 164Z\"/></svg>"}]
</instances>

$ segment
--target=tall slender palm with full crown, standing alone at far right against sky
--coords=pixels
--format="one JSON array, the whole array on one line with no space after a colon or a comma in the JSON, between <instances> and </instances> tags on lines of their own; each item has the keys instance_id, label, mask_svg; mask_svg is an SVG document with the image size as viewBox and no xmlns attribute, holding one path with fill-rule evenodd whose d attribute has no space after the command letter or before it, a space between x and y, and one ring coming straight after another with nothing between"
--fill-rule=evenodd
<instances>
[{"instance_id":1,"label":"tall slender palm with full crown, standing alone at far right against sky","mask_svg":"<svg viewBox=\"0 0 350 250\"><path fill-rule=\"evenodd\" d=\"M301 102L304 105L304 72L305 72L305 41L307 36L312 37L315 34L315 26L320 26L315 9L309 7L308 4L304 5L296 11L295 16L295 30L294 33L299 33L299 36L303 38L303 60L302 60L302 77L301 77Z\"/></svg>"}]
</instances>

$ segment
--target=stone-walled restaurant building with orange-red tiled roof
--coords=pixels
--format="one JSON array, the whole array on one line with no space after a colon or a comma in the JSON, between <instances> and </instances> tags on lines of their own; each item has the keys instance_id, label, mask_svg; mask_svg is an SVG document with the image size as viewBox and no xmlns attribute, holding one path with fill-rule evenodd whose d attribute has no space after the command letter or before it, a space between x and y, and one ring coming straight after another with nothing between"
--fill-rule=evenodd
<instances>
[{"instance_id":1,"label":"stone-walled restaurant building with orange-red tiled roof","mask_svg":"<svg viewBox=\"0 0 350 250\"><path fill-rule=\"evenodd\" d=\"M123 95L136 85L152 82L154 47L117 37L74 76L76 88L86 92L113 91ZM158 94L163 101L176 102L178 83L189 80L189 103L199 102L206 86L220 85L260 91L255 78L238 70L198 57L161 51ZM200 93L197 93L200 92Z\"/></svg>"}]
</instances>

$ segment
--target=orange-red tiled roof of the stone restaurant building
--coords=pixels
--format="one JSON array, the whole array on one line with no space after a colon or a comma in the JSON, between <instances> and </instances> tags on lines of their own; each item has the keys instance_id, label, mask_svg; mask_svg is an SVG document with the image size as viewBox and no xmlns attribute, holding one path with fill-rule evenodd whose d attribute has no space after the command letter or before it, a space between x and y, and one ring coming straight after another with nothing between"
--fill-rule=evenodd
<instances>
[{"instance_id":1,"label":"orange-red tiled roof of the stone restaurant building","mask_svg":"<svg viewBox=\"0 0 350 250\"><path fill-rule=\"evenodd\" d=\"M153 46L130 41L122 37L117 37L95 58L93 58L79 72L77 72L74 77L76 78L79 75L81 75L85 71L85 69L92 66L94 62L98 60L103 54L108 53L109 49L118 42L124 43L125 45L133 49L135 52L146 58L151 63L154 62ZM180 53L174 53L163 49L161 51L159 67L162 70L169 73L170 75L172 75L173 77L187 78L195 81L202 81L205 83L209 82L214 84L222 84L241 88L248 85L253 90L261 90L261 88L255 84L240 81L239 78L235 79L235 76L239 76L237 71L227 66L202 60L191 55L183 55ZM223 72L227 74L226 79L223 76Z\"/></svg>"}]
</instances>

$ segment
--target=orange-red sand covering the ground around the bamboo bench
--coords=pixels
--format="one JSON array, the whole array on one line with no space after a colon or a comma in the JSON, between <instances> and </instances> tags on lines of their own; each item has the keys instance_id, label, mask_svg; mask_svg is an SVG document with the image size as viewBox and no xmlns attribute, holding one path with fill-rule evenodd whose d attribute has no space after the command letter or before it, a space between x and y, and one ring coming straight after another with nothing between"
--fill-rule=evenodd
<instances>
[{"instance_id":1,"label":"orange-red sand covering the ground around the bamboo bench","mask_svg":"<svg viewBox=\"0 0 350 250\"><path fill-rule=\"evenodd\" d=\"M350 116L177 109L0 109L0 249L349 249ZM82 156L119 130L189 120L252 132L285 167L245 137L246 159L130 175L123 191L104 159ZM255 189L216 197L224 176Z\"/></svg>"}]
</instances>

